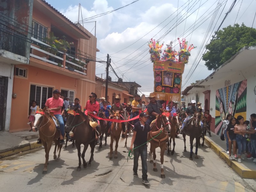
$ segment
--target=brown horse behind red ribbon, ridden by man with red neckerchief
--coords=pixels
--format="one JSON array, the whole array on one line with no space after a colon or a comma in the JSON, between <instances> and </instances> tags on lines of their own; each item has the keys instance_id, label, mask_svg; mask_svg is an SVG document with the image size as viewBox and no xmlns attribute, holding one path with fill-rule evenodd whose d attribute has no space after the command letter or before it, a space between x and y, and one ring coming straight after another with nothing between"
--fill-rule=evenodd
<instances>
[{"instance_id":1,"label":"brown horse behind red ribbon, ridden by man with red neckerchief","mask_svg":"<svg viewBox=\"0 0 256 192\"><path fill-rule=\"evenodd\" d=\"M116 112L114 112L113 119L120 120L120 111L117 110ZM112 159L114 140L116 141L114 158L117 159L118 141L120 139L121 132L122 132L122 123L112 122L111 127L110 127L110 138L111 138L110 140L111 141L110 141L110 145L109 145L109 147L110 147L109 159Z\"/></svg>"}]
</instances>

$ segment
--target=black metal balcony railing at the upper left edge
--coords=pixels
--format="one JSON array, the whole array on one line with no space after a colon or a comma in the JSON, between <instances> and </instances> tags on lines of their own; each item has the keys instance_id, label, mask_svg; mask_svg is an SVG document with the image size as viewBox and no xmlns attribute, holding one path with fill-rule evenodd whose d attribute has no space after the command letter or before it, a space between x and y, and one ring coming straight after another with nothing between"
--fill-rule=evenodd
<instances>
[{"instance_id":1,"label":"black metal balcony railing at the upper left edge","mask_svg":"<svg viewBox=\"0 0 256 192\"><path fill-rule=\"evenodd\" d=\"M0 23L0 49L26 57L26 36Z\"/></svg>"}]
</instances>

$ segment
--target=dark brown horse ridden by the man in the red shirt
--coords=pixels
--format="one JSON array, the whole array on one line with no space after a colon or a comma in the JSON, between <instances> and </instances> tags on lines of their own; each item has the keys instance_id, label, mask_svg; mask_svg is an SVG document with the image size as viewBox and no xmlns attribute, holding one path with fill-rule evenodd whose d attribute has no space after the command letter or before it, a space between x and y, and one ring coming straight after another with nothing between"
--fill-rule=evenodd
<instances>
[{"instance_id":1,"label":"dark brown horse ridden by the man in the red shirt","mask_svg":"<svg viewBox=\"0 0 256 192\"><path fill-rule=\"evenodd\" d=\"M72 132L74 133L75 145L77 148L77 155L79 164L76 171L81 171L81 157L83 159L83 167L87 167L87 163L85 162L84 156L85 152L90 145L91 147L91 157L89 160L89 166L91 166L91 162L93 160L93 152L95 147L95 133L93 128L90 126L90 119L86 116L80 109L75 108L74 110L69 109L67 114L67 122L65 125L65 131L69 132L72 128ZM81 144L84 145L84 150L81 155Z\"/></svg>"}]
</instances>

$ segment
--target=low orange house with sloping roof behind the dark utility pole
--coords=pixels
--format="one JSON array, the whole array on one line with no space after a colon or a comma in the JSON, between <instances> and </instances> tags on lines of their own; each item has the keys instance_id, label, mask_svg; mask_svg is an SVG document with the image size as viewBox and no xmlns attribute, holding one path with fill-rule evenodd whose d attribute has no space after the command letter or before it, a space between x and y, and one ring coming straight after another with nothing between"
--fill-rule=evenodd
<instances>
[{"instance_id":1,"label":"low orange house with sloping roof behind the dark utility pole","mask_svg":"<svg viewBox=\"0 0 256 192\"><path fill-rule=\"evenodd\" d=\"M95 76L95 93L98 97L105 97L106 93L106 80L100 77ZM116 95L119 95L121 98L120 103L128 103L133 100L133 95L129 94L129 90L114 82L108 81L108 98L105 98L112 105L114 103Z\"/></svg>"}]
</instances>

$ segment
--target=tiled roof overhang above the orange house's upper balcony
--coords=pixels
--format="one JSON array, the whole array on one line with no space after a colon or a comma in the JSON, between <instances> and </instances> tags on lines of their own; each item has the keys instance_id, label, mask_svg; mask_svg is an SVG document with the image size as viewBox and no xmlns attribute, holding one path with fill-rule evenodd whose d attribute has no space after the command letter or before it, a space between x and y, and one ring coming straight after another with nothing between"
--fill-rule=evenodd
<instances>
[{"instance_id":1,"label":"tiled roof overhang above the orange house's upper balcony","mask_svg":"<svg viewBox=\"0 0 256 192\"><path fill-rule=\"evenodd\" d=\"M43 12L47 17L52 18L55 23L58 23L58 26L46 26L46 27L58 27L63 31L68 31L77 38L89 40L90 36L85 33L82 29L76 26L76 24L72 23L72 21L68 20L63 14L61 14L58 10L53 8L50 4L48 4L44 0L35 0L33 3L33 7Z\"/></svg>"}]
</instances>

